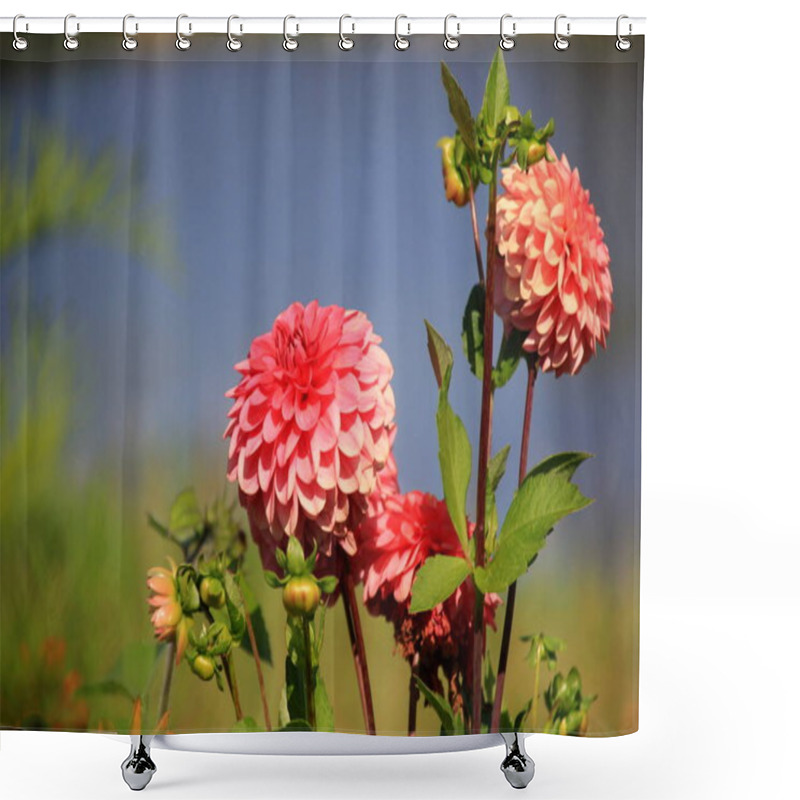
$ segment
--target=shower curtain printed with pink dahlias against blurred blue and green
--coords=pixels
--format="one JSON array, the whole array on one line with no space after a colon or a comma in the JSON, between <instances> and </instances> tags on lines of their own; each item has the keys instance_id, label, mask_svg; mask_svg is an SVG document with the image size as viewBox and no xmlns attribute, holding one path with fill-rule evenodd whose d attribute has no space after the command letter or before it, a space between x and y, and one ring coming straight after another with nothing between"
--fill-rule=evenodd
<instances>
[{"instance_id":1,"label":"shower curtain printed with pink dahlias against blurred blue and green","mask_svg":"<svg viewBox=\"0 0 800 800\"><path fill-rule=\"evenodd\" d=\"M0 726L638 725L643 42L2 40Z\"/></svg>"}]
</instances>

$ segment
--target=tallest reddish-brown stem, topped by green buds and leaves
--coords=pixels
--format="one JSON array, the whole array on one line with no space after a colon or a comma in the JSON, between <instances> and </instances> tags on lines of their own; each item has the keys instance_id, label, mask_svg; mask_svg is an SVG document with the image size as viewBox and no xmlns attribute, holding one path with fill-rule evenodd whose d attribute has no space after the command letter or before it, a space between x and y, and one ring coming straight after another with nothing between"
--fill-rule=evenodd
<instances>
[{"instance_id":1,"label":"tallest reddish-brown stem, topped by green buds and leaves","mask_svg":"<svg viewBox=\"0 0 800 800\"><path fill-rule=\"evenodd\" d=\"M497 250L497 158L489 186L489 219L486 225L486 303L483 312L483 380L481 386L481 429L478 443L478 502L475 524L475 566L482 567L486 557L486 480L492 451L492 406L494 385L494 258ZM475 586L475 615L472 624L472 732L481 732L482 661L483 661L483 594Z\"/></svg>"}]
</instances>

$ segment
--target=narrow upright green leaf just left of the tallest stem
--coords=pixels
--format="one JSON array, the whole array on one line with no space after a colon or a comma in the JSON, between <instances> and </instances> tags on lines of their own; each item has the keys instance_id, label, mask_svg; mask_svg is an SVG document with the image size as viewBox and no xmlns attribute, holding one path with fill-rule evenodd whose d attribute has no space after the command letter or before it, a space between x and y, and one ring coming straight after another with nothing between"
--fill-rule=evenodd
<instances>
[{"instance_id":1,"label":"narrow upright green leaf just left of the tallest stem","mask_svg":"<svg viewBox=\"0 0 800 800\"><path fill-rule=\"evenodd\" d=\"M469 553L467 535L467 489L472 474L472 446L464 423L453 411L447 399L450 370L447 370L439 390L439 408L436 411L436 429L439 434L439 468L447 511L458 534L461 548Z\"/></svg>"}]
</instances>

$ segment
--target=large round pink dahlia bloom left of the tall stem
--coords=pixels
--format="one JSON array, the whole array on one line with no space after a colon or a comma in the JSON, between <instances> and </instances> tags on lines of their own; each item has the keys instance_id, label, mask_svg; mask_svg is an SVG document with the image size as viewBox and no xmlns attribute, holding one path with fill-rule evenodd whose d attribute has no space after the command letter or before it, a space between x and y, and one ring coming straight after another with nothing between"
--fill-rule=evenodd
<instances>
[{"instance_id":1,"label":"large round pink dahlia bloom left of the tall stem","mask_svg":"<svg viewBox=\"0 0 800 800\"><path fill-rule=\"evenodd\" d=\"M228 479L262 560L287 536L325 556L354 530L389 459L392 364L366 315L293 303L236 365ZM284 543L285 544L285 543Z\"/></svg>"}]
</instances>

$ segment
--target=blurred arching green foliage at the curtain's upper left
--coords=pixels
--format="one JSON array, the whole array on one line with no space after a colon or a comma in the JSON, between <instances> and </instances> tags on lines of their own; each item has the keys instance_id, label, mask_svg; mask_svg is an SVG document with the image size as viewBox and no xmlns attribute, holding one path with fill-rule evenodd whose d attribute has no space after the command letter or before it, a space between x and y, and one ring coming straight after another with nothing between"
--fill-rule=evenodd
<instances>
[{"instance_id":1,"label":"blurred arching green foliage at the curtain's upper left","mask_svg":"<svg viewBox=\"0 0 800 800\"><path fill-rule=\"evenodd\" d=\"M146 263L175 267L169 218L146 196L135 158L113 145L93 153L44 127L23 130L19 144L4 131L1 147L0 264L47 236L91 233L126 242Z\"/></svg>"}]
</instances>

